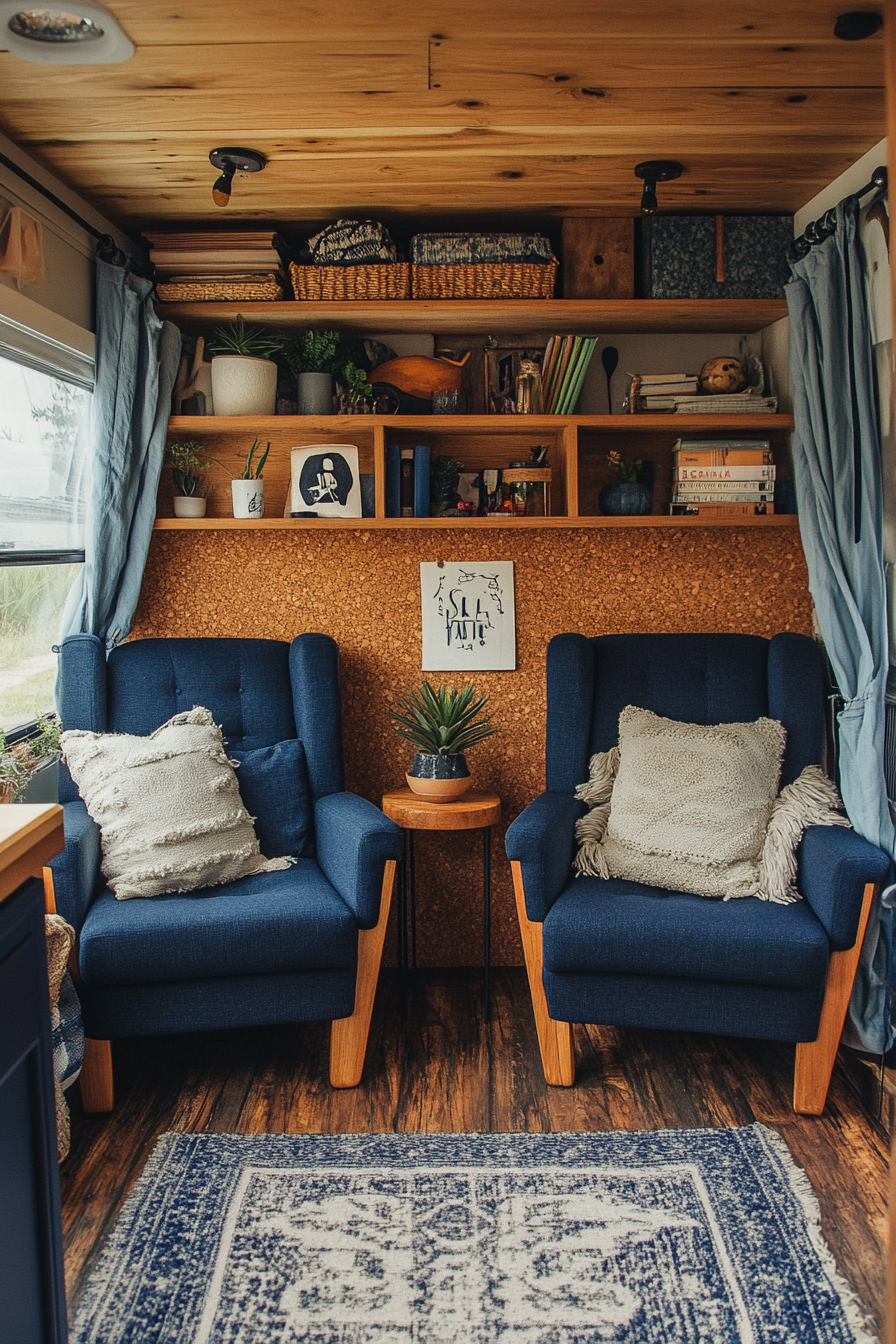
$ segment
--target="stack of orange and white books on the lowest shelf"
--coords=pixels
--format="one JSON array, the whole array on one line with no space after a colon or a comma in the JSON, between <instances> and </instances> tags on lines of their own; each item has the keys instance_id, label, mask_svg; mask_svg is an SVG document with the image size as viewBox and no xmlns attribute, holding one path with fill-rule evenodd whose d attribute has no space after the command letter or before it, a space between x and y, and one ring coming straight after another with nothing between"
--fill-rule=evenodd
<instances>
[{"instance_id":1,"label":"stack of orange and white books on the lowest shelf","mask_svg":"<svg viewBox=\"0 0 896 1344\"><path fill-rule=\"evenodd\" d=\"M680 438L672 450L672 505L686 517L775 512L775 465L767 438Z\"/></svg>"}]
</instances>

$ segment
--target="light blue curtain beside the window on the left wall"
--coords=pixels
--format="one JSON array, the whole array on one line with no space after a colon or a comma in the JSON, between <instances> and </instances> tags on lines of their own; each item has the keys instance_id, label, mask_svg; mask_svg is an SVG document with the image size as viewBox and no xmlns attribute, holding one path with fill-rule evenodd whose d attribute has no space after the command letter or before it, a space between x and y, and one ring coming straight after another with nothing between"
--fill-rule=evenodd
<instances>
[{"instance_id":1,"label":"light blue curtain beside the window on the left wall","mask_svg":"<svg viewBox=\"0 0 896 1344\"><path fill-rule=\"evenodd\" d=\"M165 452L180 332L163 323L148 280L97 261L97 382L85 567L62 637L95 634L107 649L130 630Z\"/></svg>"}]
</instances>

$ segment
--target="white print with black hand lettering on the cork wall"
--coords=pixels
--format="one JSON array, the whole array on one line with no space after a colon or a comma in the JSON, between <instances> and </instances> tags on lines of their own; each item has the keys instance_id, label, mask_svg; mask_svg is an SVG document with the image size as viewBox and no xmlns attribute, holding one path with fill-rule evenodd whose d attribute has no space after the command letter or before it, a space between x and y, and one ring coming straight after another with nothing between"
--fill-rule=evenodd
<instances>
[{"instance_id":1,"label":"white print with black hand lettering on the cork wall","mask_svg":"<svg viewBox=\"0 0 896 1344\"><path fill-rule=\"evenodd\" d=\"M513 560L420 564L424 672L516 668Z\"/></svg>"}]
</instances>

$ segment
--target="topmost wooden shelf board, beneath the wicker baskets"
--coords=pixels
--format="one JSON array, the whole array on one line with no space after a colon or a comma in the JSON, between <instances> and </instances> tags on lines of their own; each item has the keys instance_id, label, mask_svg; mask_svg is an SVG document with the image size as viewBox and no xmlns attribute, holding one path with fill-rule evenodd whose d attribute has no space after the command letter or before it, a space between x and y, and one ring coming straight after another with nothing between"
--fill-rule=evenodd
<instances>
[{"instance_id":1,"label":"topmost wooden shelf board, beneath the wicker baskets","mask_svg":"<svg viewBox=\"0 0 896 1344\"><path fill-rule=\"evenodd\" d=\"M783 298L407 298L369 302L157 304L181 327L228 323L239 313L271 327L352 332L756 332L787 316Z\"/></svg>"}]
</instances>

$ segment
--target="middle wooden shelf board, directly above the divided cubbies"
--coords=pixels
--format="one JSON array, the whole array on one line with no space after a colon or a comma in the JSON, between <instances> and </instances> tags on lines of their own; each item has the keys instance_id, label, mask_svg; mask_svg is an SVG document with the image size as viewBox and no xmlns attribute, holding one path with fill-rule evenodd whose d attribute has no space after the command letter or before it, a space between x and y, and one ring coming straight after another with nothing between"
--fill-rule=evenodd
<instances>
[{"instance_id":1,"label":"middle wooden shelf board, directly above the divided cubbies","mask_svg":"<svg viewBox=\"0 0 896 1344\"><path fill-rule=\"evenodd\" d=\"M269 434L274 430L301 430L326 434L371 433L383 426L394 430L431 430L461 434L463 430L489 434L531 435L574 425L578 429L603 429L614 433L643 434L669 431L677 438L695 430L766 430L787 434L794 427L793 415L172 415L169 431L177 434Z\"/></svg>"}]
</instances>

